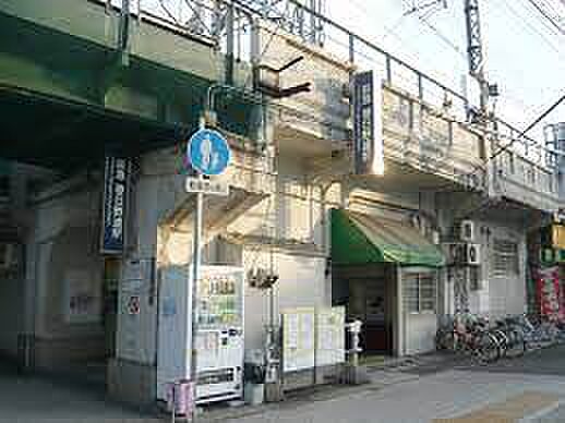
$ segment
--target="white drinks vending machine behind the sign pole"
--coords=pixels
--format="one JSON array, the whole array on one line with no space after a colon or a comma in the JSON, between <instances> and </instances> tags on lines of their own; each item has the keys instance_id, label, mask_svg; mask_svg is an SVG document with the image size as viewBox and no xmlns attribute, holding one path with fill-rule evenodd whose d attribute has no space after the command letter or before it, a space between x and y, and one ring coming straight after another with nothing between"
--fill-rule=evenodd
<instances>
[{"instance_id":1,"label":"white drinks vending machine behind the sign pole","mask_svg":"<svg viewBox=\"0 0 565 423\"><path fill-rule=\"evenodd\" d=\"M190 379L192 271L170 266L161 274L157 351L157 398L172 383ZM197 287L196 403L243 395L243 287L240 267L202 266Z\"/></svg>"}]
</instances>

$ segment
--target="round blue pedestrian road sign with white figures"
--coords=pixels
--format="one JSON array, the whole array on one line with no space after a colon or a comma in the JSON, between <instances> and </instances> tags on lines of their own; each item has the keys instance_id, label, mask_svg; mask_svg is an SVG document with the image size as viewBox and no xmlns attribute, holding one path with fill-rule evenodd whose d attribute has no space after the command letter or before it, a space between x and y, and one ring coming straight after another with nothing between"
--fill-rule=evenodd
<instances>
[{"instance_id":1,"label":"round blue pedestrian road sign with white figures","mask_svg":"<svg viewBox=\"0 0 565 423\"><path fill-rule=\"evenodd\" d=\"M205 129L191 136L187 153L191 166L208 177L223 173L231 156L227 140L219 132Z\"/></svg>"}]
</instances>

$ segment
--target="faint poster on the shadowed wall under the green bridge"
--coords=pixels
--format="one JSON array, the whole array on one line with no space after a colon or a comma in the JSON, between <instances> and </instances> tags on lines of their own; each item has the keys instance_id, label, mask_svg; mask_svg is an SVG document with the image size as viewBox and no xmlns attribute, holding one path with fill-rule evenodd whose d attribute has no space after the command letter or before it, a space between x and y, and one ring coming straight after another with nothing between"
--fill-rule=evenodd
<instances>
[{"instance_id":1,"label":"faint poster on the shadowed wall under the green bridge","mask_svg":"<svg viewBox=\"0 0 565 423\"><path fill-rule=\"evenodd\" d=\"M86 270L64 276L64 318L69 324L97 323L101 318L101 285Z\"/></svg>"}]
</instances>

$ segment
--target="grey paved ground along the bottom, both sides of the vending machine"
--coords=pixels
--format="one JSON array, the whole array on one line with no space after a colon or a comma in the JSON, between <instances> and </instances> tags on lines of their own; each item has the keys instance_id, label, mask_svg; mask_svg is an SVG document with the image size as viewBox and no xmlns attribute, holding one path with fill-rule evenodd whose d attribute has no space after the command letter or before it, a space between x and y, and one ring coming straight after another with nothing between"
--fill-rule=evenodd
<instances>
[{"instance_id":1,"label":"grey paved ground along the bottom, both sides of the vending machine","mask_svg":"<svg viewBox=\"0 0 565 423\"><path fill-rule=\"evenodd\" d=\"M272 404L231 421L428 423L466 413L484 414L489 407L516 409L516 402L524 402L525 398L542 402L557 399L565 409L565 346L486 366L469 365L467 360L449 355L423 356L417 361L418 366L373 372L371 385L327 388L323 395ZM554 414L553 421L565 422L565 411ZM221 419L226 420L227 416ZM13 368L0 365L0 422L4 421L153 423L163 420L112 403L101 390L91 386L64 379L22 377Z\"/></svg>"}]
</instances>

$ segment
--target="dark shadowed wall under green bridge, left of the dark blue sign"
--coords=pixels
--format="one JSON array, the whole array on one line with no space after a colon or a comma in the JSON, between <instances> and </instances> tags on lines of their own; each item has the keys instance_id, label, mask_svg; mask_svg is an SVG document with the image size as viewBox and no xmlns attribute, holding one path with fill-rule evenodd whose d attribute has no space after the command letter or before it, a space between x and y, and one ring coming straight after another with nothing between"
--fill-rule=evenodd
<instances>
[{"instance_id":1,"label":"dark shadowed wall under green bridge, left of the dark blue sign","mask_svg":"<svg viewBox=\"0 0 565 423\"><path fill-rule=\"evenodd\" d=\"M98 182L70 180L35 198L26 305L39 367L65 366L105 353ZM82 294L89 301L84 313L72 305L73 297Z\"/></svg>"}]
</instances>

